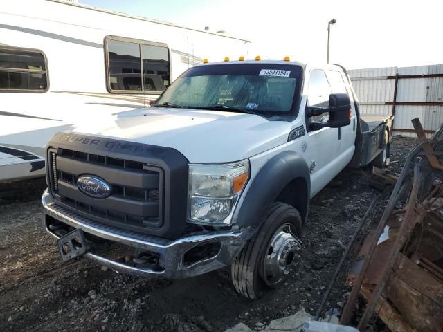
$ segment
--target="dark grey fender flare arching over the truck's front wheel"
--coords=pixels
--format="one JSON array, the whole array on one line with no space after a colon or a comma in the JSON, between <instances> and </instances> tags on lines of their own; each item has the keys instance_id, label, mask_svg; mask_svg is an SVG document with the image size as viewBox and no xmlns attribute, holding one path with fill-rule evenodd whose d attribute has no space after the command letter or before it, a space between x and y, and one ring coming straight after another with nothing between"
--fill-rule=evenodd
<instances>
[{"instance_id":1,"label":"dark grey fender flare arching over the truck's front wheel","mask_svg":"<svg viewBox=\"0 0 443 332\"><path fill-rule=\"evenodd\" d=\"M278 198L289 183L299 179L305 181L306 185L306 192L302 197L304 210L299 211L304 224L309 210L311 176L305 159L293 151L284 151L273 156L260 169L248 191L244 193L246 196L239 206L235 223L239 227L260 225L264 221L269 205Z\"/></svg>"}]
</instances>

